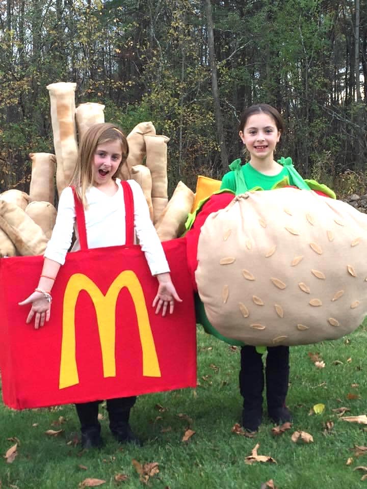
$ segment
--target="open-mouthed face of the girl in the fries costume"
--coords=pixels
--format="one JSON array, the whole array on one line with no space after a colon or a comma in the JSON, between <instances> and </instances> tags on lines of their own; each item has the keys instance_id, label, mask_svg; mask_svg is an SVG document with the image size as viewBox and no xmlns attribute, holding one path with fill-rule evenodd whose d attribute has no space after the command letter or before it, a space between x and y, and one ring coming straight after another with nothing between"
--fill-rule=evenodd
<instances>
[{"instance_id":1,"label":"open-mouthed face of the girl in the fries costume","mask_svg":"<svg viewBox=\"0 0 367 489\"><path fill-rule=\"evenodd\" d=\"M109 186L114 183L115 175L122 159L120 140L107 141L98 145L93 157L93 178L96 187Z\"/></svg>"}]
</instances>

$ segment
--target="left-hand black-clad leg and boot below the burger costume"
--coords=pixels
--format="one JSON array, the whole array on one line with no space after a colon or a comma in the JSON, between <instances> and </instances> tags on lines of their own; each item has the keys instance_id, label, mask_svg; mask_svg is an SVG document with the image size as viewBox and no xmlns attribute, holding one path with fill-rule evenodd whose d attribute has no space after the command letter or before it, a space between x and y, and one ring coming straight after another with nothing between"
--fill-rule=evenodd
<instances>
[{"instance_id":1,"label":"left-hand black-clad leg and boot below the burger costume","mask_svg":"<svg viewBox=\"0 0 367 489\"><path fill-rule=\"evenodd\" d=\"M242 426L257 431L263 419L263 358L254 346L241 348L240 392L243 401Z\"/></svg>"}]
</instances>

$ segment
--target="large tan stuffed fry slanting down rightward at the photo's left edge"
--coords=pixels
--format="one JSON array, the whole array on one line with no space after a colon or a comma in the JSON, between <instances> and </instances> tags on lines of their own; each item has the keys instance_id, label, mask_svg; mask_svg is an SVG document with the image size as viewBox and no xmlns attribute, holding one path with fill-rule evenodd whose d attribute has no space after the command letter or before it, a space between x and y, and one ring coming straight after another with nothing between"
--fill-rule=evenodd
<instances>
[{"instance_id":1,"label":"large tan stuffed fry slanting down rightward at the photo's left edge","mask_svg":"<svg viewBox=\"0 0 367 489\"><path fill-rule=\"evenodd\" d=\"M47 238L42 229L20 207L0 200L0 228L20 255L42 255Z\"/></svg>"}]
</instances>

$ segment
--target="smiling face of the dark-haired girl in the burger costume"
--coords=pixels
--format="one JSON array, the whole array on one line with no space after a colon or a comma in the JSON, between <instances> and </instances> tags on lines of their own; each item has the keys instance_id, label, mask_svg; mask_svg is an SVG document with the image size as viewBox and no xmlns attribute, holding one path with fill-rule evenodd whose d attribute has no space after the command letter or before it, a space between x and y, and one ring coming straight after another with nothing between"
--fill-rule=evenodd
<instances>
[{"instance_id":1,"label":"smiling face of the dark-haired girl in the burger costume","mask_svg":"<svg viewBox=\"0 0 367 489\"><path fill-rule=\"evenodd\" d=\"M251 160L274 158L274 150L280 139L280 131L269 114L260 112L250 116L240 138L251 155Z\"/></svg>"}]
</instances>

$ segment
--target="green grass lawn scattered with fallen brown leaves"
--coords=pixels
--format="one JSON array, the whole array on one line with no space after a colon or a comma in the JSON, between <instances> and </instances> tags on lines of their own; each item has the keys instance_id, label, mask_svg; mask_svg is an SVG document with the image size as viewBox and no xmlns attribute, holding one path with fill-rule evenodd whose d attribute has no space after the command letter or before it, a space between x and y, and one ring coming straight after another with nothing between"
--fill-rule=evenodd
<instances>
[{"instance_id":1,"label":"green grass lawn scattered with fallen brown leaves","mask_svg":"<svg viewBox=\"0 0 367 489\"><path fill-rule=\"evenodd\" d=\"M83 453L75 444L78 423L73 406L15 412L0 404L0 453L5 455L15 438L19 441L13 463L0 459L0 487L76 489L86 478L106 481L103 488L143 487L133 459L140 464L159 464L159 473L148 480L152 488L260 489L270 479L278 489L367 487L367 480L360 480L367 472L354 470L367 466L367 451L358 456L355 450L355 446L367 445L367 425L342 421L332 411L345 406L350 409L346 416L367 414L366 342L364 325L348 338L291 348L287 405L294 422L277 437L266 417L253 439L231 432L241 416L240 350L206 335L201 328L198 387L141 396L132 411L131 424L143 439L143 447L119 446L112 439L103 405L106 446ZM325 367L317 368L309 352L318 353ZM309 415L318 403L325 404L324 412ZM331 430L325 427L328 421L333 423ZM182 442L188 427L195 434ZM48 429L63 431L53 437L45 434ZM296 430L311 434L313 443L292 442ZM257 443L258 454L273 457L277 464L245 463ZM347 466L350 457L353 460ZM127 479L117 481L117 474Z\"/></svg>"}]
</instances>

